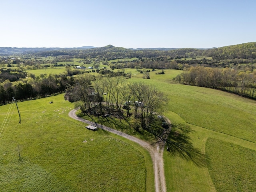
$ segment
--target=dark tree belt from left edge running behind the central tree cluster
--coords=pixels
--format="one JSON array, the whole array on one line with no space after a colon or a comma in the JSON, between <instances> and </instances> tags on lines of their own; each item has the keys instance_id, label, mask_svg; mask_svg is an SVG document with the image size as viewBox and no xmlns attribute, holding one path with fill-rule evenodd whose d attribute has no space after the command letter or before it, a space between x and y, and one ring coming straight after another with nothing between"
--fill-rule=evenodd
<instances>
[{"instance_id":1,"label":"dark tree belt from left edge running behind the central tree cluster","mask_svg":"<svg viewBox=\"0 0 256 192\"><path fill-rule=\"evenodd\" d=\"M35 76L22 70L0 70L0 104L12 101L15 95L16 100L28 100L32 98L45 97L51 94L65 92L68 86L77 83L75 75L89 74L90 71L74 69L65 66L63 74L40 74ZM124 73L124 70L96 69L97 72L108 77L123 76L130 78L131 74ZM93 75L90 75L93 76Z\"/></svg>"}]
</instances>

